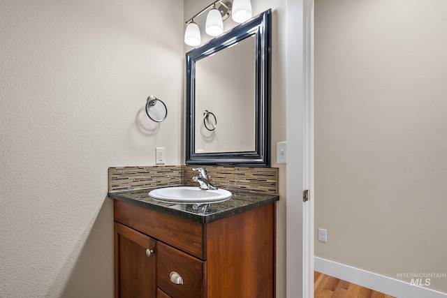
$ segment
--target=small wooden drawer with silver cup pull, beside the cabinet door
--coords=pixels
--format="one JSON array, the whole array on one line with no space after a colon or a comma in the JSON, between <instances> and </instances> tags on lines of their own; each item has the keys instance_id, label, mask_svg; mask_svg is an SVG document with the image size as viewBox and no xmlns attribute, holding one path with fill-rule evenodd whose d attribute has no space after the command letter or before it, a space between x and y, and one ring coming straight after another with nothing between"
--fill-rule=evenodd
<instances>
[{"instance_id":1,"label":"small wooden drawer with silver cup pull, beside the cabinet door","mask_svg":"<svg viewBox=\"0 0 447 298\"><path fill-rule=\"evenodd\" d=\"M157 285L173 298L203 297L203 273L206 262L193 258L166 244L157 244ZM171 281L171 274L182 278L182 283ZM179 278L177 278L178 280Z\"/></svg>"}]
</instances>

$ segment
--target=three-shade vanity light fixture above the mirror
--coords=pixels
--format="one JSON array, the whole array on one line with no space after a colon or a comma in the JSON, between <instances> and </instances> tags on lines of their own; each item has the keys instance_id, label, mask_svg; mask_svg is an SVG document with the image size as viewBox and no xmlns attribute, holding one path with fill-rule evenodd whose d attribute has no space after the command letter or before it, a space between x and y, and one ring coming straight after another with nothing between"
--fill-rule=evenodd
<instances>
[{"instance_id":1,"label":"three-shade vanity light fixture above the mirror","mask_svg":"<svg viewBox=\"0 0 447 298\"><path fill-rule=\"evenodd\" d=\"M219 4L219 6L217 6ZM234 8L237 8L236 10ZM196 15L186 21L186 30L184 32L184 43L186 45L200 45L200 29L194 22L199 15L210 10L205 22L205 32L210 36L219 36L223 33L223 21L233 13L233 21L242 23L251 18L251 2L250 0L233 0L233 4L228 0L217 0L209 6L200 10Z\"/></svg>"}]
</instances>

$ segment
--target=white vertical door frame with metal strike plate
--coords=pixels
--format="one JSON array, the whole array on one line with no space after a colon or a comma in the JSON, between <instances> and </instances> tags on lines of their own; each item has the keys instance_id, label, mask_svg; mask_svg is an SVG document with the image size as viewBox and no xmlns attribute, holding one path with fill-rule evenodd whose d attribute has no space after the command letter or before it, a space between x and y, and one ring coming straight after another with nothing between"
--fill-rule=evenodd
<instances>
[{"instance_id":1,"label":"white vertical door frame with metal strike plate","mask_svg":"<svg viewBox=\"0 0 447 298\"><path fill-rule=\"evenodd\" d=\"M286 61L286 296L311 298L314 297L314 0L287 0ZM305 190L309 190L307 202L302 200Z\"/></svg>"}]
</instances>

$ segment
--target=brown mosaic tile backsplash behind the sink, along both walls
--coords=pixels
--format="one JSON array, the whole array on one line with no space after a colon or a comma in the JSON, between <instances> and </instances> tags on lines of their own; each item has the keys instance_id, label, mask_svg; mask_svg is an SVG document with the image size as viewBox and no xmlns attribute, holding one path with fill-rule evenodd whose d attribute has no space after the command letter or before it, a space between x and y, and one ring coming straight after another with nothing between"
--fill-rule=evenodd
<instances>
[{"instance_id":1,"label":"brown mosaic tile backsplash behind the sink, along both walls","mask_svg":"<svg viewBox=\"0 0 447 298\"><path fill-rule=\"evenodd\" d=\"M250 193L278 193L276 167L218 167L211 165L167 165L142 167L109 167L109 191L126 191L159 186L196 186L193 167L205 167L211 183L219 188Z\"/></svg>"}]
</instances>

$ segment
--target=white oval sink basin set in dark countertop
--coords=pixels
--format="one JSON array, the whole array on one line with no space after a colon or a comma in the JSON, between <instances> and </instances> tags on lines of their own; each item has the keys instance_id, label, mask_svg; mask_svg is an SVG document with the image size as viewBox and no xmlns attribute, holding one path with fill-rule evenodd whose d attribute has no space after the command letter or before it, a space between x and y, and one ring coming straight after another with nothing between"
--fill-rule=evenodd
<instances>
[{"instance_id":1,"label":"white oval sink basin set in dark countertop","mask_svg":"<svg viewBox=\"0 0 447 298\"><path fill-rule=\"evenodd\" d=\"M229 200L231 193L222 188L215 191L200 189L198 186L177 186L154 189L149 196L162 202L180 204L216 203Z\"/></svg>"}]
</instances>

